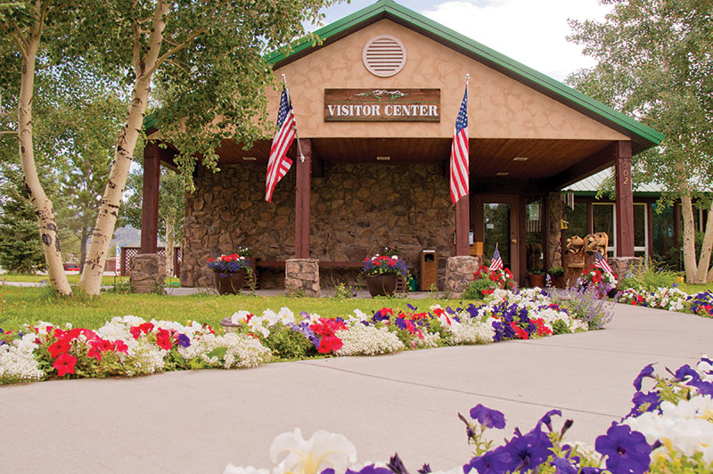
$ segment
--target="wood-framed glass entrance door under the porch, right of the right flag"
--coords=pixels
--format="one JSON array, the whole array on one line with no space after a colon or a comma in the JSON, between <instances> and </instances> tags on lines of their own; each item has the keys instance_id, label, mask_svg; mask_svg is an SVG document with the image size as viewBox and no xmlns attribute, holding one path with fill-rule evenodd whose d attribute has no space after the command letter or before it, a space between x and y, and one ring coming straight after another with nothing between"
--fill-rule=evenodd
<instances>
[{"instance_id":1,"label":"wood-framed glass entrance door under the porch, right of the right flag","mask_svg":"<svg viewBox=\"0 0 713 474\"><path fill-rule=\"evenodd\" d=\"M475 240L483 242L485 265L490 265L497 245L503 265L510 268L515 281L520 282L518 196L475 196L474 208Z\"/></svg>"}]
</instances>

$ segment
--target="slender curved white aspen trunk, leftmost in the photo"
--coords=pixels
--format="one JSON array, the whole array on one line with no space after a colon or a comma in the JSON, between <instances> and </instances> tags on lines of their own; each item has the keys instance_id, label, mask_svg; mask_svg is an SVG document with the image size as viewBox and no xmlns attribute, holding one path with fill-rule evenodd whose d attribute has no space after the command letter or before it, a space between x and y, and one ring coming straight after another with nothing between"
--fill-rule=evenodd
<instances>
[{"instance_id":1,"label":"slender curved white aspen trunk, leftmost in the photo","mask_svg":"<svg viewBox=\"0 0 713 474\"><path fill-rule=\"evenodd\" d=\"M35 61L42 31L43 15L37 14L36 24L29 32L24 42L22 54L22 74L20 77L20 100L18 101L18 143L20 146L20 163L29 200L37 213L42 249L45 251L45 262L50 285L61 295L70 295L70 282L61 264L60 240L57 234L57 223L54 220L52 201L47 198L45 190L37 177L35 164L35 148L32 139L32 96L35 89Z\"/></svg>"}]
</instances>

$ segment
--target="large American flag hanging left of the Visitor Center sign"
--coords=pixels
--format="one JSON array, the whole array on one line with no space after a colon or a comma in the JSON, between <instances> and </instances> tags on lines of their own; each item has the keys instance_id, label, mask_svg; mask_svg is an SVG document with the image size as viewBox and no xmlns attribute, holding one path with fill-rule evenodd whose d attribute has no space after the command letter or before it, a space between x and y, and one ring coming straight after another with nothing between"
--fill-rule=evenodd
<instances>
[{"instance_id":1,"label":"large American flag hanging left of the Visitor Center sign","mask_svg":"<svg viewBox=\"0 0 713 474\"><path fill-rule=\"evenodd\" d=\"M273 192L277 183L290 171L292 160L287 158L287 151L290 150L290 146L297 134L295 113L292 110L292 102L285 86L283 86L283 94L280 97L280 110L277 111L277 128L277 134L273 138L273 145L270 147L270 160L267 162L265 187L265 200L267 202L273 199Z\"/></svg>"}]
</instances>

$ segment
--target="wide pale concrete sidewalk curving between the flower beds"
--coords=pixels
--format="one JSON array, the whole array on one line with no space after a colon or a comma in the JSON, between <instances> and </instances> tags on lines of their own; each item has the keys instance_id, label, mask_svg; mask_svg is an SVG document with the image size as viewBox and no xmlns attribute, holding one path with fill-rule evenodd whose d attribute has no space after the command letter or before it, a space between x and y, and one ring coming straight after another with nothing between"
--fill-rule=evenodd
<instances>
[{"instance_id":1,"label":"wide pale concrete sidewalk curving between the flower beds","mask_svg":"<svg viewBox=\"0 0 713 474\"><path fill-rule=\"evenodd\" d=\"M605 331L532 341L0 387L0 465L72 474L272 467L273 438L299 427L307 437L344 434L359 462L398 452L412 472L423 462L450 469L470 458L456 414L479 403L505 413L498 442L560 408L575 420L568 438L594 444L628 413L645 364L691 364L713 354L712 337L713 320L617 305Z\"/></svg>"}]
</instances>

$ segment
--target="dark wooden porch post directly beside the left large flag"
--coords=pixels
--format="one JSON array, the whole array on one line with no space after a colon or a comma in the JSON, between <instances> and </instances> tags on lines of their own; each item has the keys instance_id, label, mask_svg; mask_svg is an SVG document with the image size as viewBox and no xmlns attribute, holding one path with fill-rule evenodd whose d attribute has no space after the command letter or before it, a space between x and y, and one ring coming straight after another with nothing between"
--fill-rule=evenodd
<instances>
[{"instance_id":1,"label":"dark wooden porch post directly beside the left large flag","mask_svg":"<svg viewBox=\"0 0 713 474\"><path fill-rule=\"evenodd\" d=\"M309 200L312 192L312 140L299 141L305 161L297 152L295 191L295 258L309 258Z\"/></svg>"}]
</instances>

